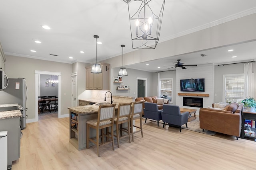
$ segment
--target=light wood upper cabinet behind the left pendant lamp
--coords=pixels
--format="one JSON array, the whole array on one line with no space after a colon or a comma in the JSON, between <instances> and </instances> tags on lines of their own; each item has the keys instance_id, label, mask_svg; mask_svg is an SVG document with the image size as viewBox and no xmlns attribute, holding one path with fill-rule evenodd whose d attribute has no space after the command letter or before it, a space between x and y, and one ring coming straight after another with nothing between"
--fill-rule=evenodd
<instances>
[{"instance_id":1,"label":"light wood upper cabinet behind the left pendant lamp","mask_svg":"<svg viewBox=\"0 0 256 170\"><path fill-rule=\"evenodd\" d=\"M100 63L102 73L91 73L92 68L86 68L86 89L87 90L109 90L109 65Z\"/></svg>"}]
</instances>

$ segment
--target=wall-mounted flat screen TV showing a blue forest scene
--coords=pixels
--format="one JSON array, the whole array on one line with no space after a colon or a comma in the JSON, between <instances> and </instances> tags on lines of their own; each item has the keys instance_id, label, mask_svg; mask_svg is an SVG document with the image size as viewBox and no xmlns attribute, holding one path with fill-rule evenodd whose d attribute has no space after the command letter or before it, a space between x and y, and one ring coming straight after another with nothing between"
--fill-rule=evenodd
<instances>
[{"instance_id":1,"label":"wall-mounted flat screen TV showing a blue forest scene","mask_svg":"<svg viewBox=\"0 0 256 170\"><path fill-rule=\"evenodd\" d=\"M204 78L191 78L180 80L182 92L204 92Z\"/></svg>"}]
</instances>

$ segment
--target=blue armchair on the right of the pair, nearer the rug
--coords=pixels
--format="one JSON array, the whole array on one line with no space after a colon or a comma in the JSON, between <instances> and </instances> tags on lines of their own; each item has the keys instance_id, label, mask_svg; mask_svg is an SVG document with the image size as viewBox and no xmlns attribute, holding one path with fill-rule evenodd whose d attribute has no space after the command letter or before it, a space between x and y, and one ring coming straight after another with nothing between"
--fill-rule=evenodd
<instances>
[{"instance_id":1,"label":"blue armchair on the right of the pair, nearer the rug","mask_svg":"<svg viewBox=\"0 0 256 170\"><path fill-rule=\"evenodd\" d=\"M165 123L177 125L180 127L181 132L181 126L186 123L186 127L188 128L187 122L188 122L188 115L189 112L180 113L180 107L179 106L173 106L173 105L163 105L163 111L162 114L162 120ZM164 127L164 126L163 126Z\"/></svg>"}]
</instances>

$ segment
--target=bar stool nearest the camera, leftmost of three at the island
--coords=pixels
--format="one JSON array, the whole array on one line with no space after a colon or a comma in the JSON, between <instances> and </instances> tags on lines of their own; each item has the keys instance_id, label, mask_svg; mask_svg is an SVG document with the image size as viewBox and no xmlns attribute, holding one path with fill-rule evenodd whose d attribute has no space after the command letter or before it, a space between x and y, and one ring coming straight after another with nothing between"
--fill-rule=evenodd
<instances>
[{"instance_id":1,"label":"bar stool nearest the camera, leftmost of three at the island","mask_svg":"<svg viewBox=\"0 0 256 170\"><path fill-rule=\"evenodd\" d=\"M100 105L98 109L98 119L89 120L86 122L86 148L89 149L89 141L97 145L97 154L100 157L100 145L105 145L112 142L112 148L114 150L114 115L116 104ZM96 129L96 137L90 138L90 127ZM108 128L111 127L111 136L108 133ZM106 133L104 133L106 128ZM100 135L101 130L101 135ZM106 137L104 142L103 137ZM100 139L101 137L101 144ZM95 141L96 139L96 141ZM111 139L109 141L109 139Z\"/></svg>"}]
</instances>

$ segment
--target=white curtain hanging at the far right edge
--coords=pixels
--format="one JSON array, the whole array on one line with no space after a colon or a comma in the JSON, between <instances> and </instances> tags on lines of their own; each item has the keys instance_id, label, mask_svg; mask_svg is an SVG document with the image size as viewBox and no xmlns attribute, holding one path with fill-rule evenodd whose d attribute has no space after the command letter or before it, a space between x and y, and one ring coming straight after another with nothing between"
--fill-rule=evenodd
<instances>
[{"instance_id":1,"label":"white curtain hanging at the far right edge","mask_svg":"<svg viewBox=\"0 0 256 170\"><path fill-rule=\"evenodd\" d=\"M252 63L244 63L244 98L254 97L254 73Z\"/></svg>"}]
</instances>

